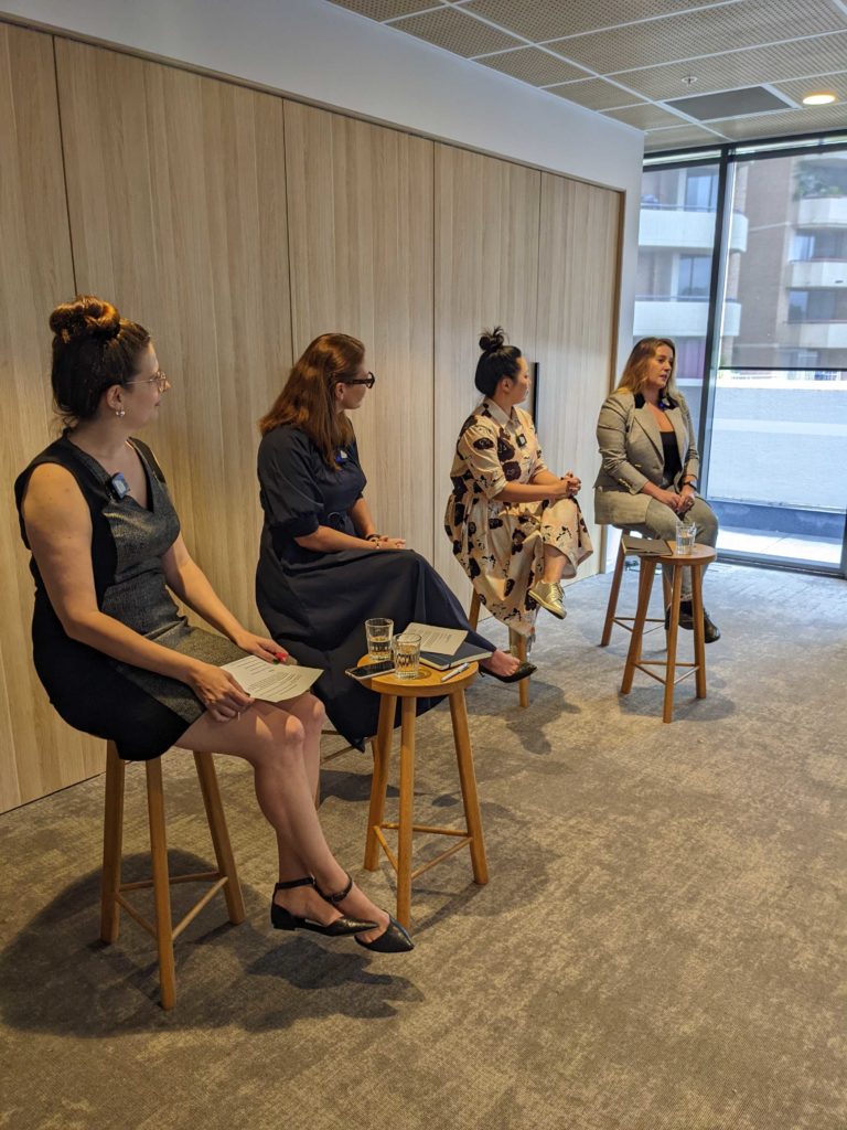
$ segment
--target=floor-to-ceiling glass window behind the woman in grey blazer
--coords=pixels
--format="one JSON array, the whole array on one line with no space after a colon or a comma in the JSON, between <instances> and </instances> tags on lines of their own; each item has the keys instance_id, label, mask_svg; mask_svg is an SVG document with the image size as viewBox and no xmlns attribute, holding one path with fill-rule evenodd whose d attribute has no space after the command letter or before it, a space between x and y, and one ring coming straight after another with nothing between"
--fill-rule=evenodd
<instances>
[{"instance_id":1,"label":"floor-to-ceiling glass window behind the woman in grey blazer","mask_svg":"<svg viewBox=\"0 0 847 1130\"><path fill-rule=\"evenodd\" d=\"M708 445L701 488L721 519L718 550L840 571L847 144L650 159L636 337L676 341L678 380Z\"/></svg>"}]
</instances>

